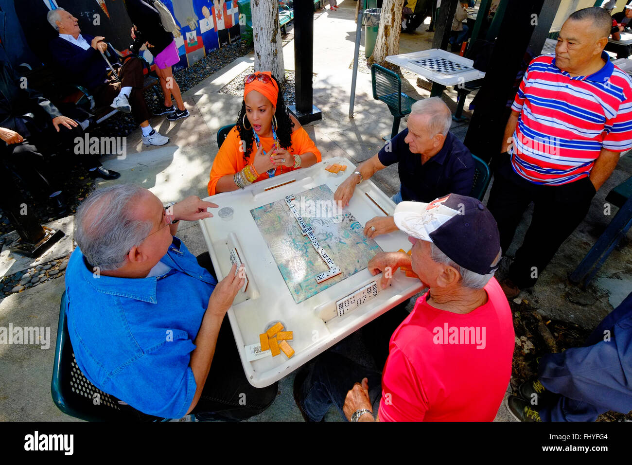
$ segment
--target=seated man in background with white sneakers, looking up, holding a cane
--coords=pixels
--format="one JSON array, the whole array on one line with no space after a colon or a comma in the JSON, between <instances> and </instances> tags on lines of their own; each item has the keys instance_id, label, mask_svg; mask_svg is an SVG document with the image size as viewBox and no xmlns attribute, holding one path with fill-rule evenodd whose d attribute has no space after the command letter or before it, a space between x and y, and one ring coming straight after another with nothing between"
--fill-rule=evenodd
<instances>
[{"instance_id":1,"label":"seated man in background with white sneakers, looking up, holding a cane","mask_svg":"<svg viewBox=\"0 0 632 465\"><path fill-rule=\"evenodd\" d=\"M59 32L49 44L52 59L74 84L94 95L98 105L110 105L123 113L133 113L140 121L143 144L164 146L169 142L149 125L149 110L143 97L143 64L139 58L127 58L119 70L120 82L109 75L106 61L100 56L107 50L104 37L80 34L75 16L63 8L48 12L48 22Z\"/></svg>"}]
</instances>

